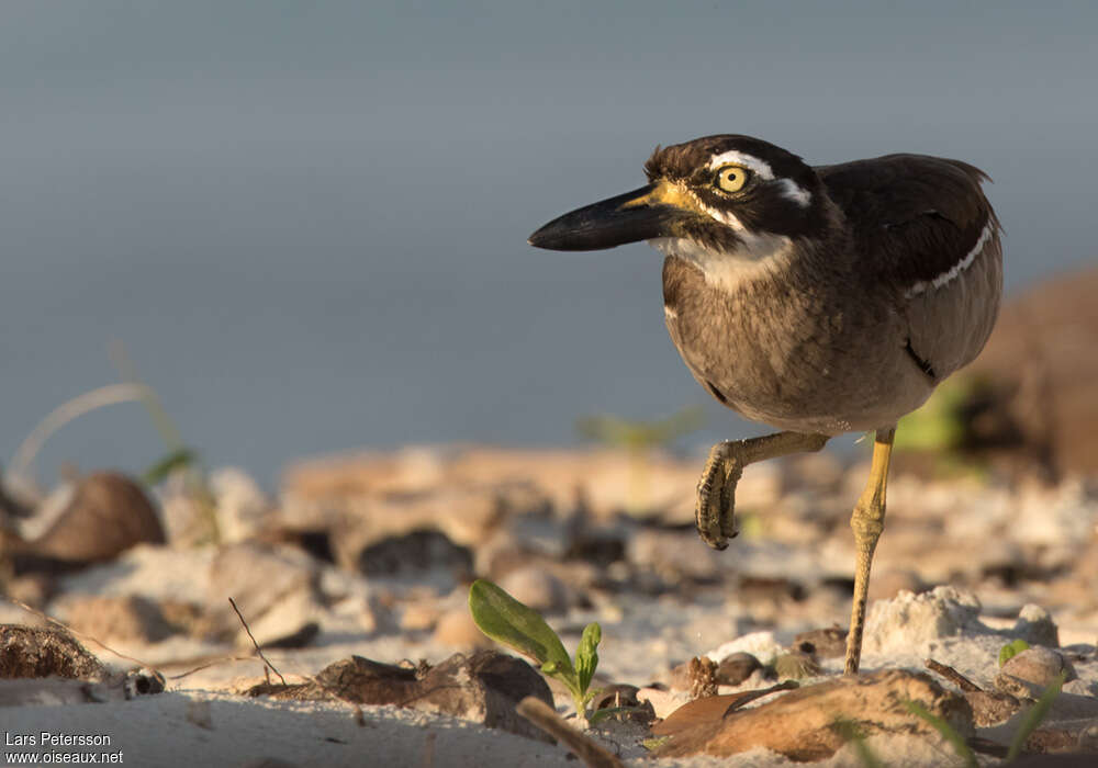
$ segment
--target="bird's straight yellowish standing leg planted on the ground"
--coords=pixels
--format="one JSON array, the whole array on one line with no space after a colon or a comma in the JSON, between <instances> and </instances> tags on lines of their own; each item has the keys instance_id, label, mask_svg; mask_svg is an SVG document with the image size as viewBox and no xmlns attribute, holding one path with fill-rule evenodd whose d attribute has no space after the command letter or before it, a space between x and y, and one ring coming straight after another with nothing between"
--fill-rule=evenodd
<instances>
[{"instance_id":1,"label":"bird's straight yellowish standing leg planted on the ground","mask_svg":"<svg viewBox=\"0 0 1098 768\"><path fill-rule=\"evenodd\" d=\"M865 601L870 591L870 567L873 551L885 527L885 486L888 482L888 460L892 456L896 428L878 429L873 441L873 464L865 490L858 498L850 527L854 529L858 562L854 569L854 606L850 612L850 634L847 635L847 675L858 674L862 658L862 632L865 629Z\"/></svg>"}]
</instances>

